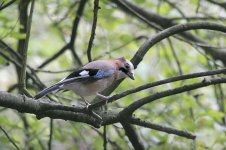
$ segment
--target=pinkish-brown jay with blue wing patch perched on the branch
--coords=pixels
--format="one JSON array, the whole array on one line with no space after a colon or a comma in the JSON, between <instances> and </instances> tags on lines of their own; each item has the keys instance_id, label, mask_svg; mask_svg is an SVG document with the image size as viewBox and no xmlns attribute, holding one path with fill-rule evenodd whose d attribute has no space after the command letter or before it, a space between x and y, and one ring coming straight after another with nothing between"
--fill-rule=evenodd
<instances>
[{"instance_id":1,"label":"pinkish-brown jay with blue wing patch perched on the branch","mask_svg":"<svg viewBox=\"0 0 226 150\"><path fill-rule=\"evenodd\" d=\"M43 89L34 96L34 99L39 99L55 90L69 90L80 96L86 105L90 105L84 97L96 95L108 100L110 97L104 96L100 92L109 87L114 81L125 77L135 79L134 65L124 57L111 60L95 60L75 70L56 84Z\"/></svg>"}]
</instances>

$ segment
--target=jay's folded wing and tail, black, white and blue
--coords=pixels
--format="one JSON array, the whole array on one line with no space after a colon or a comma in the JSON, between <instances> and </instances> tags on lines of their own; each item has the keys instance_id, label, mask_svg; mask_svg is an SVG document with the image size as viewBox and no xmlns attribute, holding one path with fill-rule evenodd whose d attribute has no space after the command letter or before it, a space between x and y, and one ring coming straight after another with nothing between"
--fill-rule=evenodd
<instances>
[{"instance_id":1,"label":"jay's folded wing and tail, black, white and blue","mask_svg":"<svg viewBox=\"0 0 226 150\"><path fill-rule=\"evenodd\" d=\"M34 99L39 99L46 94L61 88L63 85L71 84L73 82L94 82L103 78L110 77L114 74L113 69L81 69L74 71L69 76L63 80L57 82L56 84L43 89L40 91Z\"/></svg>"}]
</instances>

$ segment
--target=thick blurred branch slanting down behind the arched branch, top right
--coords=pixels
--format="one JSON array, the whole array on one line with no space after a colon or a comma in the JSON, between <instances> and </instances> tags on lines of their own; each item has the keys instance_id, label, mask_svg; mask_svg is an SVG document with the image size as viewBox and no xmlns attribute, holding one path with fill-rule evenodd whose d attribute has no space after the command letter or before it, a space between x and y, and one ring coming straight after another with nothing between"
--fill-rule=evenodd
<instances>
[{"instance_id":1,"label":"thick blurred branch slanting down behind the arched branch, top right","mask_svg":"<svg viewBox=\"0 0 226 150\"><path fill-rule=\"evenodd\" d=\"M111 0L112 3L115 3L119 6L123 11L129 13L130 15L142 20L144 23L148 24L155 29L161 30L161 28L169 28L171 26L177 25L172 19L166 18L165 16L161 16L150 11L146 11L145 9L128 2L126 0ZM208 22L207 22L208 23ZM194 36L190 33L181 33L181 37L187 39L188 41L197 42L206 45L207 43L202 39ZM210 54L213 58L221 60L224 64L226 64L226 52L221 50L216 50L214 48L205 47L199 45L207 54Z\"/></svg>"}]
</instances>

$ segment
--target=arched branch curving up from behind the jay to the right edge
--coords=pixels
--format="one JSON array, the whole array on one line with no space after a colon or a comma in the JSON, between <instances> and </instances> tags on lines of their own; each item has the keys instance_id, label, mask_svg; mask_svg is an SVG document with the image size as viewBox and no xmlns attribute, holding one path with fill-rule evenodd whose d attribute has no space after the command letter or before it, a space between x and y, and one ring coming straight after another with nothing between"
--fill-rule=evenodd
<instances>
[{"instance_id":1,"label":"arched branch curving up from behind the jay to the right edge","mask_svg":"<svg viewBox=\"0 0 226 150\"><path fill-rule=\"evenodd\" d=\"M136 54L133 56L131 62L133 63L134 67L136 68L138 66L138 64L143 60L143 57L146 55L148 50L152 46L154 46L156 43L160 42L161 40L163 40L171 35L181 33L181 32L187 31L187 30L193 30L193 29L208 29L208 30L216 30L216 31L221 31L221 32L226 33L226 26L219 25L216 23L206 22L206 21L175 25L173 27L170 27L168 29L165 29L165 30L159 32L155 36L152 36L147 41L145 41L140 46L140 48L138 49ZM224 56L224 55L222 54L222 56ZM112 93L112 91L114 91L123 80L124 79L114 82L109 88L107 88L106 90L103 91L103 94L109 95L110 93ZM113 100L113 97L112 97L112 99L109 99L109 102L111 102L112 100ZM104 101L98 101L93 106L91 105L90 108L98 107L103 104L104 104Z\"/></svg>"}]
</instances>

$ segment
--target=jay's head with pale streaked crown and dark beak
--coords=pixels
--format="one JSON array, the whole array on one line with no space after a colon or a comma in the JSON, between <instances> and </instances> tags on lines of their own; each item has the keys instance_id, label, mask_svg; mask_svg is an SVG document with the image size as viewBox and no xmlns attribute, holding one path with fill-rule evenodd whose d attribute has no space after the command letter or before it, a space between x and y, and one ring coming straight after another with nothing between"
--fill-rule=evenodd
<instances>
[{"instance_id":1,"label":"jay's head with pale streaked crown and dark beak","mask_svg":"<svg viewBox=\"0 0 226 150\"><path fill-rule=\"evenodd\" d=\"M134 66L133 64L125 59L124 57L120 57L117 59L119 61L119 71L122 72L122 77L128 76L130 79L134 80Z\"/></svg>"}]
</instances>

